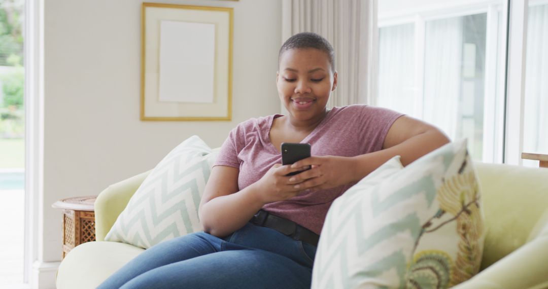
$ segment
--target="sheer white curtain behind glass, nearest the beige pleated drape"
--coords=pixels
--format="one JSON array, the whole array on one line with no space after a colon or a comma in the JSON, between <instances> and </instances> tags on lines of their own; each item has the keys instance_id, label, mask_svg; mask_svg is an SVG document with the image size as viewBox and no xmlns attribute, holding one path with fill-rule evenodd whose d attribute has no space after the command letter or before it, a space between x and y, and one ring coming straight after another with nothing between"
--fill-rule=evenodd
<instances>
[{"instance_id":1,"label":"sheer white curtain behind glass, nearest the beige pleated drape","mask_svg":"<svg viewBox=\"0 0 548 289\"><path fill-rule=\"evenodd\" d=\"M377 105L415 113L415 25L379 29L379 97Z\"/></svg>"}]
</instances>

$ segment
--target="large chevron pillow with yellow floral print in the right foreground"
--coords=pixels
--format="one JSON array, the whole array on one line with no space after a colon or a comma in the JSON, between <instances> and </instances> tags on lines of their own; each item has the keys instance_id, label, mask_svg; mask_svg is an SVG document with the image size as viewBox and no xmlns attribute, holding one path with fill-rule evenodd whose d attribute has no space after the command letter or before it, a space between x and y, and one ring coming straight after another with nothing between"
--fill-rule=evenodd
<instances>
[{"instance_id":1,"label":"large chevron pillow with yellow floral print in the right foreground","mask_svg":"<svg viewBox=\"0 0 548 289\"><path fill-rule=\"evenodd\" d=\"M466 140L398 163L333 202L312 288L447 288L479 271L483 212Z\"/></svg>"}]
</instances>

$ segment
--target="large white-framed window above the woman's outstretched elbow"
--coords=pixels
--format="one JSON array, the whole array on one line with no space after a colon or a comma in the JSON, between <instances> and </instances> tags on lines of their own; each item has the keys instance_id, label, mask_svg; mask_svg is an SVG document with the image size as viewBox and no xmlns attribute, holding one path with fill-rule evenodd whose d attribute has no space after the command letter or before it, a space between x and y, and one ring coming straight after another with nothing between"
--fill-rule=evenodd
<instances>
[{"instance_id":1,"label":"large white-framed window above the woman's outstretched elbow","mask_svg":"<svg viewBox=\"0 0 548 289\"><path fill-rule=\"evenodd\" d=\"M502 160L503 2L379 1L376 104L466 137L475 160Z\"/></svg>"}]
</instances>

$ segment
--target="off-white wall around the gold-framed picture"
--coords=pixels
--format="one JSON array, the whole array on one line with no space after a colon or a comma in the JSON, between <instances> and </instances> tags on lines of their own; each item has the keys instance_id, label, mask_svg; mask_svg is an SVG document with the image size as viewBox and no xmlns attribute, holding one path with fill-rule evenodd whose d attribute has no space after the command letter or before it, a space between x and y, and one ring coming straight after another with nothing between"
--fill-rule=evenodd
<instances>
[{"instance_id":1,"label":"off-white wall around the gold-framed picture","mask_svg":"<svg viewBox=\"0 0 548 289\"><path fill-rule=\"evenodd\" d=\"M234 8L231 122L142 122L137 0L48 0L44 4L44 202L39 259L61 257L56 200L96 195L151 169L197 134L217 147L236 124L279 112L281 2L180 0Z\"/></svg>"}]
</instances>

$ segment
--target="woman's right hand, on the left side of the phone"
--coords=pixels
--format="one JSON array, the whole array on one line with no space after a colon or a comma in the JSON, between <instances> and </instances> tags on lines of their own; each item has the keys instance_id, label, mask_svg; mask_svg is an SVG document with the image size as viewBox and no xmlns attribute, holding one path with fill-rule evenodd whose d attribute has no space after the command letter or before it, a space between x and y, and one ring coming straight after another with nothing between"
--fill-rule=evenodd
<instances>
[{"instance_id":1,"label":"woman's right hand, on the left side of the phone","mask_svg":"<svg viewBox=\"0 0 548 289\"><path fill-rule=\"evenodd\" d=\"M275 164L259 181L254 185L258 192L260 201L263 204L273 203L275 201L283 201L298 195L301 190L295 189L295 184L304 182L306 180L299 180L297 182L289 182L291 176L286 176L290 172L302 171L308 167L296 167L292 168L291 165Z\"/></svg>"}]
</instances>

